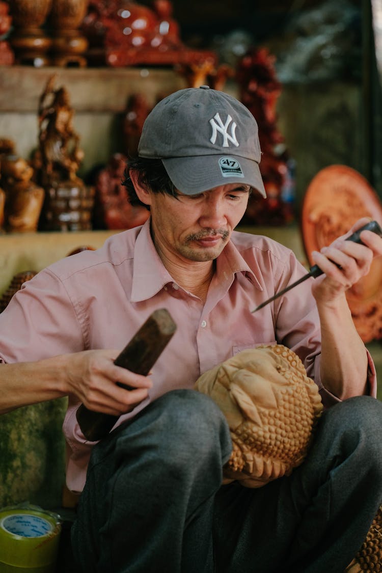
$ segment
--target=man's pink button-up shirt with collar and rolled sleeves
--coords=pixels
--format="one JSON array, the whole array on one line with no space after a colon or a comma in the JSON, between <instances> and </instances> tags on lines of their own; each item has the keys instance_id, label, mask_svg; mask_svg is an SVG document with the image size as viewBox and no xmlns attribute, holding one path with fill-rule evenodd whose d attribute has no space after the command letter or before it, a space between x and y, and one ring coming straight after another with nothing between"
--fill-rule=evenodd
<instances>
[{"instance_id":1,"label":"man's pink button-up shirt with collar and rolled sleeves","mask_svg":"<svg viewBox=\"0 0 382 573\"><path fill-rule=\"evenodd\" d=\"M149 398L192 388L216 364L258 344L285 344L296 352L324 402L320 324L310 280L258 312L250 311L306 270L289 249L269 238L234 232L216 260L206 303L184 291L164 268L149 220L110 237L102 248L64 258L27 281L0 314L0 362L27 362L90 348L124 348L147 317L167 308L177 329L152 368ZM369 357L369 382L376 394ZM93 442L76 420L79 402L69 396L64 420L66 481L81 492Z\"/></svg>"}]
</instances>

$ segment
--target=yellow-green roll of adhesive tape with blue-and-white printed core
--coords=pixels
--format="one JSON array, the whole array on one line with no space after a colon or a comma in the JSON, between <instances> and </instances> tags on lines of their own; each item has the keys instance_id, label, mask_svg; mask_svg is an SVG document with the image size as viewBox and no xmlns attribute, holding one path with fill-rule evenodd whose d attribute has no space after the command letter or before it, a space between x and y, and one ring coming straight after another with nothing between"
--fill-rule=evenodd
<instances>
[{"instance_id":1,"label":"yellow-green roll of adhesive tape with blue-and-white printed core","mask_svg":"<svg viewBox=\"0 0 382 573\"><path fill-rule=\"evenodd\" d=\"M35 505L0 509L0 572L53 573L61 524Z\"/></svg>"}]
</instances>

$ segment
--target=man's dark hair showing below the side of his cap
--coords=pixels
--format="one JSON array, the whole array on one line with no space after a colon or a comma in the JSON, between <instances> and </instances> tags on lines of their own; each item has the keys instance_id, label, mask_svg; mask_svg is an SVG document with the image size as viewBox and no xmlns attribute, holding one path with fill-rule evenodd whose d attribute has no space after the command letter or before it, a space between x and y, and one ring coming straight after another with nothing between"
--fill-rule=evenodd
<instances>
[{"instance_id":1,"label":"man's dark hair showing below the side of his cap","mask_svg":"<svg viewBox=\"0 0 382 573\"><path fill-rule=\"evenodd\" d=\"M178 197L179 193L167 175L162 160L147 159L144 157L129 158L127 160L122 185L127 189L131 205L141 205L150 210L149 205L142 203L136 194L135 187L129 175L130 169L137 172L140 185L147 187L152 193L167 193L167 195L171 195L172 197Z\"/></svg>"}]
</instances>

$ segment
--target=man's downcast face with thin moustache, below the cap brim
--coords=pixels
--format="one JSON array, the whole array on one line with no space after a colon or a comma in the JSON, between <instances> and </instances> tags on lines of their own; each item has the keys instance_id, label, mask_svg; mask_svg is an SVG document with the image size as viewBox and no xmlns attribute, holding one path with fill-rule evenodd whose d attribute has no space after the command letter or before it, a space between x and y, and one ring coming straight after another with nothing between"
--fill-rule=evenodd
<instances>
[{"instance_id":1,"label":"man's downcast face with thin moustache, below the cap brim","mask_svg":"<svg viewBox=\"0 0 382 573\"><path fill-rule=\"evenodd\" d=\"M161 256L211 261L245 213L249 185L229 183L199 195L149 193L151 230Z\"/></svg>"}]
</instances>

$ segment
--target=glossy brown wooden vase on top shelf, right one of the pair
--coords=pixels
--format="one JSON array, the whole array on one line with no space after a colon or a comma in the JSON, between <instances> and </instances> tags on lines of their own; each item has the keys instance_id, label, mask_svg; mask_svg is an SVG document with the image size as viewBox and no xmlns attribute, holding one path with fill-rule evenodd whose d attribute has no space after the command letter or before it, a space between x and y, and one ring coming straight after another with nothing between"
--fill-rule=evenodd
<instances>
[{"instance_id":1,"label":"glossy brown wooden vase on top shelf, right one of the pair","mask_svg":"<svg viewBox=\"0 0 382 573\"><path fill-rule=\"evenodd\" d=\"M84 20L88 0L53 0L50 11L52 26L53 63L57 66L86 66L84 53L88 48L88 40L80 32Z\"/></svg>"}]
</instances>

